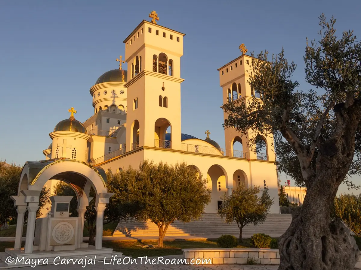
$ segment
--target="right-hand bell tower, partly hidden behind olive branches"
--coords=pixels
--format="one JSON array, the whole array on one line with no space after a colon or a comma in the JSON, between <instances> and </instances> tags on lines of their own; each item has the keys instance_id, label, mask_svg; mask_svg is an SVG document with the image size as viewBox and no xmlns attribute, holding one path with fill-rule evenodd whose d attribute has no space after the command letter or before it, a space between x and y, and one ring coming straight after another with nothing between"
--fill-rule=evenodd
<instances>
[{"instance_id":1,"label":"right-hand bell tower, partly hidden behind olive branches","mask_svg":"<svg viewBox=\"0 0 361 270\"><path fill-rule=\"evenodd\" d=\"M245 54L247 53L247 48L244 44L241 44L239 49L242 52L240 57L217 70L219 71L219 82L222 87L223 104L228 102L243 102L247 106L248 102L252 102L253 98L258 98L259 95L251 89L251 85L248 83L252 57ZM228 117L227 113L223 112L223 117L226 119ZM255 134L251 131L243 135L234 128L226 128L226 149L230 149L234 157L274 161L273 137L271 135L260 135L259 143L263 144L264 148L259 153L255 153L247 147L249 138L253 138L253 136L255 136ZM242 150L235 149L236 143L238 145L239 143L242 144Z\"/></svg>"}]
</instances>

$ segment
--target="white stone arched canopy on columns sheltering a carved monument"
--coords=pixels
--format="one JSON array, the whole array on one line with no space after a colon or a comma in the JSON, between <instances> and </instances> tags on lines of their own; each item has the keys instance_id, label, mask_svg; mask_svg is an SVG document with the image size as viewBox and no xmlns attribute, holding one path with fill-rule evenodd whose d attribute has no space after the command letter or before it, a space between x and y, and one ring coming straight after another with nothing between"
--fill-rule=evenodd
<instances>
[{"instance_id":1,"label":"white stone arched canopy on columns sheltering a carved monument","mask_svg":"<svg viewBox=\"0 0 361 270\"><path fill-rule=\"evenodd\" d=\"M34 249L36 211L39 208L40 192L45 183L52 179L65 181L73 187L73 189L76 191L75 193L77 194L79 224L78 226L75 226L77 229L75 229L73 226L70 226L73 228L73 230L75 230L75 232L73 231L72 236L74 237L73 242L75 249L82 247L84 213L86 211L86 207L89 205L90 199L92 199L89 198L90 189L93 188L95 190L95 209L97 211L95 249L101 249L103 239L104 210L106 208L106 203L109 203L109 198L113 195L113 193L108 193L106 174L102 168L93 167L85 162L74 159L56 159L43 162L25 163L20 177L18 194L17 196L12 196L12 199L15 202L15 206L18 208L14 249L21 248L23 220L25 211L28 210L24 253L32 253ZM59 218L59 220L62 221L61 218ZM60 222L59 220L57 220L57 222ZM56 220L52 221L56 222ZM55 226L53 223L51 225ZM48 247L48 245L45 246Z\"/></svg>"}]
</instances>

